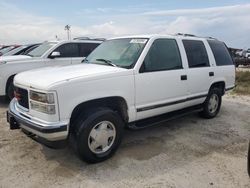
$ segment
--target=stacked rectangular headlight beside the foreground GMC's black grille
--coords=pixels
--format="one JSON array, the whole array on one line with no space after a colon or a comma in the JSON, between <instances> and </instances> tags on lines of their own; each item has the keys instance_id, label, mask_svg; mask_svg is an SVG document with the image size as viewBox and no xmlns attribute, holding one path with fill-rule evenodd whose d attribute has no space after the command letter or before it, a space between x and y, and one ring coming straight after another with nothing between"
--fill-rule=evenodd
<instances>
[{"instance_id":1,"label":"stacked rectangular headlight beside the foreground GMC's black grille","mask_svg":"<svg viewBox=\"0 0 250 188\"><path fill-rule=\"evenodd\" d=\"M30 108L45 114L55 114L56 106L54 93L30 91Z\"/></svg>"}]
</instances>

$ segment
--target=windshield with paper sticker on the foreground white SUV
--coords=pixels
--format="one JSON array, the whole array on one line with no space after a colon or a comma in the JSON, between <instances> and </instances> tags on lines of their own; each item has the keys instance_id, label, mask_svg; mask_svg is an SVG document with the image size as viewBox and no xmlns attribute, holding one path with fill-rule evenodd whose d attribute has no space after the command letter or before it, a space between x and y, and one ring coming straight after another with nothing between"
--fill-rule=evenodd
<instances>
[{"instance_id":1,"label":"windshield with paper sticker on the foreground white SUV","mask_svg":"<svg viewBox=\"0 0 250 188\"><path fill-rule=\"evenodd\" d=\"M148 39L123 38L103 42L87 58L87 63L132 68ZM107 63L108 62L108 63Z\"/></svg>"}]
</instances>

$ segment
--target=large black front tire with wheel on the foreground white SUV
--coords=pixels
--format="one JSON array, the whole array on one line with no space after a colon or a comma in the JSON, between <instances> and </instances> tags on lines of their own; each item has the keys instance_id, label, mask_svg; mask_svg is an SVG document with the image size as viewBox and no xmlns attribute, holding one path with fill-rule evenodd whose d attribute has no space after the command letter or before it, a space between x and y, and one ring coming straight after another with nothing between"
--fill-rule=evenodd
<instances>
[{"instance_id":1,"label":"large black front tire with wheel on the foreground white SUV","mask_svg":"<svg viewBox=\"0 0 250 188\"><path fill-rule=\"evenodd\" d=\"M87 163L98 163L112 157L123 136L124 123L111 109L98 108L82 113L75 121L74 147ZM98 146L98 144L101 146Z\"/></svg>"}]
</instances>

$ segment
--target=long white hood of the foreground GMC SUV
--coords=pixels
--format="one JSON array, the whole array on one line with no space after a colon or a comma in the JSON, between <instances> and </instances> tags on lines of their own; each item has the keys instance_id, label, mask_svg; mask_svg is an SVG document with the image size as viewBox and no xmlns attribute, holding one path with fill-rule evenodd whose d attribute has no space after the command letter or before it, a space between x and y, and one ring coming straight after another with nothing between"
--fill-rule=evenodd
<instances>
[{"instance_id":1,"label":"long white hood of the foreground GMC SUV","mask_svg":"<svg viewBox=\"0 0 250 188\"><path fill-rule=\"evenodd\" d=\"M78 64L70 66L55 66L35 69L19 73L15 76L15 84L48 90L52 86L84 79L84 81L111 77L115 75L128 75L128 69L97 64Z\"/></svg>"}]
</instances>

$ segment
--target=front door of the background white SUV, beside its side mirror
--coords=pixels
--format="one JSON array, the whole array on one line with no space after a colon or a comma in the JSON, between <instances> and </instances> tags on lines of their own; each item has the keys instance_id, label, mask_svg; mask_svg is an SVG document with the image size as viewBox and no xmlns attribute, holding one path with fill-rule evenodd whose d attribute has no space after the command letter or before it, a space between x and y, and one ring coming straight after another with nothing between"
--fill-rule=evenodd
<instances>
[{"instance_id":1,"label":"front door of the background white SUV, beside its side mirror","mask_svg":"<svg viewBox=\"0 0 250 188\"><path fill-rule=\"evenodd\" d=\"M79 49L77 43L62 44L61 46L53 50L53 52L60 52L60 56L49 59L48 63L51 66L70 65L72 62L72 58L79 57Z\"/></svg>"}]
</instances>

